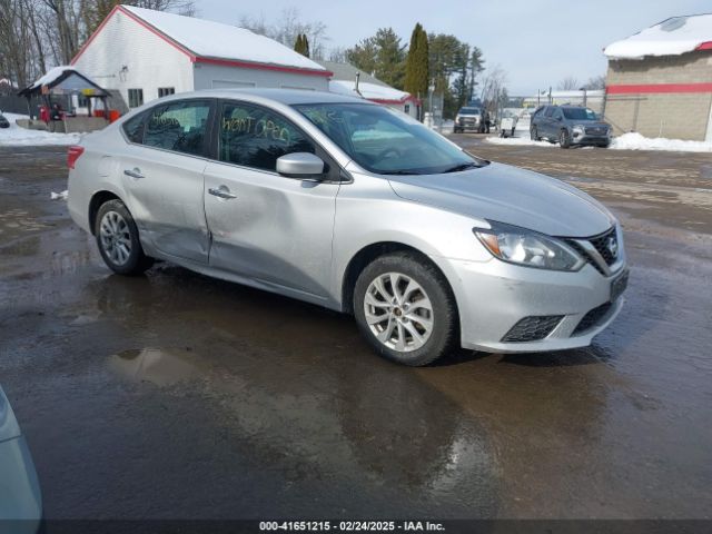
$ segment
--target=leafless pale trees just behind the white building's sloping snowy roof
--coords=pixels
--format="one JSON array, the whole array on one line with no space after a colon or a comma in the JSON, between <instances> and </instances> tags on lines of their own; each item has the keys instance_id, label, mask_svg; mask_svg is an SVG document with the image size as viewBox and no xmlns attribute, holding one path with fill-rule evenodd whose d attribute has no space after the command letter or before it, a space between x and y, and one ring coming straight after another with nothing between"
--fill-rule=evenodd
<instances>
[{"instance_id":1,"label":"leafless pale trees just behind the white building's sloping snowy roof","mask_svg":"<svg viewBox=\"0 0 712 534\"><path fill-rule=\"evenodd\" d=\"M241 16L238 24L260 36L269 37L284 46L294 48L299 33L307 36L309 52L315 59L324 59L326 53L326 24L320 21L304 21L297 8L286 8L275 23L268 23L264 13L259 17Z\"/></svg>"}]
</instances>

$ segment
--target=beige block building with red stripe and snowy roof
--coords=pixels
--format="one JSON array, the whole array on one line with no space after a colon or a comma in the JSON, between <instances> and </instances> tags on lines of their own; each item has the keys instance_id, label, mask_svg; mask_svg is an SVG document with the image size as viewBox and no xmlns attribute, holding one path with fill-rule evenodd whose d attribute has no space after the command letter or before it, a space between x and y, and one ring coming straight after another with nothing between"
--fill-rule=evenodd
<instances>
[{"instance_id":1,"label":"beige block building with red stripe and snowy roof","mask_svg":"<svg viewBox=\"0 0 712 534\"><path fill-rule=\"evenodd\" d=\"M712 14L664 20L604 53L616 134L712 141Z\"/></svg>"}]
</instances>

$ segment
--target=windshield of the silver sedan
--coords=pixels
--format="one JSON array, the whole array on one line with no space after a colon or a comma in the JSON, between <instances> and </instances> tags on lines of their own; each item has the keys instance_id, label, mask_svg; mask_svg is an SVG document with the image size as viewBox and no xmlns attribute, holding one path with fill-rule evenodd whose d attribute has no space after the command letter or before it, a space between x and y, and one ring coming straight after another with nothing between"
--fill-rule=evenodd
<instances>
[{"instance_id":1,"label":"windshield of the silver sedan","mask_svg":"<svg viewBox=\"0 0 712 534\"><path fill-rule=\"evenodd\" d=\"M436 175L482 167L417 120L369 103L295 106L364 169L379 175Z\"/></svg>"}]
</instances>

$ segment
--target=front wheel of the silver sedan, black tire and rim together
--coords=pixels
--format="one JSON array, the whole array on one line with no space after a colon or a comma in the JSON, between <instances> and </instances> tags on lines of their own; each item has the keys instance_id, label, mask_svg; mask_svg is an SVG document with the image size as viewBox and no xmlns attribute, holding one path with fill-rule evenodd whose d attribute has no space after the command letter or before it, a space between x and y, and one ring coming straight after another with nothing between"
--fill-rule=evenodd
<instances>
[{"instance_id":1,"label":"front wheel of the silver sedan, black tire and rim together","mask_svg":"<svg viewBox=\"0 0 712 534\"><path fill-rule=\"evenodd\" d=\"M399 364L427 365L457 342L457 309L447 280L412 253L380 256L362 271L354 315L373 348Z\"/></svg>"}]
</instances>

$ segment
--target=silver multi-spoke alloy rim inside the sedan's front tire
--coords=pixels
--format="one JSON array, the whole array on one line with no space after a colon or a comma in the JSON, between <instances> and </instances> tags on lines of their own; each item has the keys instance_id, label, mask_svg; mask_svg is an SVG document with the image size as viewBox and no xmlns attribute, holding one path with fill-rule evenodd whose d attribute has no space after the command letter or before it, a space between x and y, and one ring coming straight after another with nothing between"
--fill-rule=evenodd
<instances>
[{"instance_id":1,"label":"silver multi-spoke alloy rim inside the sedan's front tire","mask_svg":"<svg viewBox=\"0 0 712 534\"><path fill-rule=\"evenodd\" d=\"M433 333L433 304L415 279L402 273L378 275L364 297L366 323L386 347L408 353L421 348Z\"/></svg>"}]
</instances>

